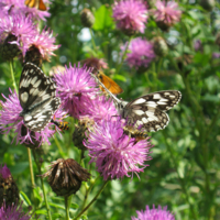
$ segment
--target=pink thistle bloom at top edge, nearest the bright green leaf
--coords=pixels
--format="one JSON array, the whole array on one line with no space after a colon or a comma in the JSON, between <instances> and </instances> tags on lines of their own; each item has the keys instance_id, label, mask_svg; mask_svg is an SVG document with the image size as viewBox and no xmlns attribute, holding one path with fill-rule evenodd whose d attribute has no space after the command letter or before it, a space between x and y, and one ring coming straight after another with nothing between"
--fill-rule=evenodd
<instances>
[{"instance_id":1,"label":"pink thistle bloom at top edge, nearest the bright green leaf","mask_svg":"<svg viewBox=\"0 0 220 220\"><path fill-rule=\"evenodd\" d=\"M147 10L142 0L114 1L112 16L117 22L117 28L128 35L144 33Z\"/></svg>"}]
</instances>

